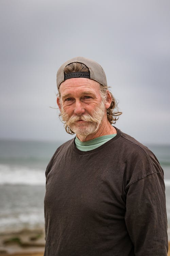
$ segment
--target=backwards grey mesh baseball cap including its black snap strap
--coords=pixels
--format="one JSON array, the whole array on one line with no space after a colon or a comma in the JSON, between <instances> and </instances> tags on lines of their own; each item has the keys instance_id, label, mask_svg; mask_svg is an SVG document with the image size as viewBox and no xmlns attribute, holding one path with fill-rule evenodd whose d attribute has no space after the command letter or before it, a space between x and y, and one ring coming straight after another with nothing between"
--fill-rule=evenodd
<instances>
[{"instance_id":1,"label":"backwards grey mesh baseball cap including its black snap strap","mask_svg":"<svg viewBox=\"0 0 170 256\"><path fill-rule=\"evenodd\" d=\"M69 74L64 73L65 67L73 62L83 63L89 72L72 72ZM62 82L74 77L85 77L97 81L99 84L107 86L106 75L103 68L94 60L84 57L75 57L66 61L57 71L57 89L59 89Z\"/></svg>"}]
</instances>

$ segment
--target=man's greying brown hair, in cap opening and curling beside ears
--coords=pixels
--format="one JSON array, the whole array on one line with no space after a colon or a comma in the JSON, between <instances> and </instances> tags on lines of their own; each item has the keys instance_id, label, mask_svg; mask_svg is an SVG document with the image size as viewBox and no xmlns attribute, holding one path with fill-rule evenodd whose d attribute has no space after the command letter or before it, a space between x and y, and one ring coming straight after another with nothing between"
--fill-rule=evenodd
<instances>
[{"instance_id":1,"label":"man's greying brown hair, in cap opening and curling beside ears","mask_svg":"<svg viewBox=\"0 0 170 256\"><path fill-rule=\"evenodd\" d=\"M65 74L69 74L72 72L89 72L89 69L83 63L73 62L68 64L64 69ZM106 102L106 97L107 97L106 91L108 90L108 88L109 88L108 86L103 86L100 84L100 94L104 103ZM115 124L116 120L119 118L119 115L121 115L122 112L119 112L117 107L117 101L113 97L113 94L111 93L111 91L109 91L109 93L112 96L112 102L109 108L107 109L107 119L110 124ZM60 97L60 92L59 92L59 97Z\"/></svg>"}]
</instances>

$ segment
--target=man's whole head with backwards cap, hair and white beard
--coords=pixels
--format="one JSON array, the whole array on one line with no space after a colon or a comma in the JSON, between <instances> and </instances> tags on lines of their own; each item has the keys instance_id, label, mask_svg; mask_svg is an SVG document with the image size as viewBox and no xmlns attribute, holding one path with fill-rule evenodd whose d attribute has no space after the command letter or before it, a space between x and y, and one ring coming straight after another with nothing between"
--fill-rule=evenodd
<instances>
[{"instance_id":1,"label":"man's whole head with backwards cap, hair and white beard","mask_svg":"<svg viewBox=\"0 0 170 256\"><path fill-rule=\"evenodd\" d=\"M108 91L103 68L83 57L65 62L57 72L57 104L68 133L96 132L101 123L115 123L117 106Z\"/></svg>"}]
</instances>

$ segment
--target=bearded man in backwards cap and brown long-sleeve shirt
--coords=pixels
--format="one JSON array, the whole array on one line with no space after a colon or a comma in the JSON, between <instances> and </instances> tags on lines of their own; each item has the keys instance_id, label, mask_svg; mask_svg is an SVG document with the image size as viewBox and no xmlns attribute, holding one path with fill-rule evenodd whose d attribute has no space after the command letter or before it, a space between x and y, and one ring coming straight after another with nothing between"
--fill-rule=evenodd
<instances>
[{"instance_id":1,"label":"bearded man in backwards cap and brown long-sleeve shirt","mask_svg":"<svg viewBox=\"0 0 170 256\"><path fill-rule=\"evenodd\" d=\"M163 170L154 154L112 126L121 112L102 67L83 57L57 72L65 129L46 170L45 256L165 256Z\"/></svg>"}]
</instances>

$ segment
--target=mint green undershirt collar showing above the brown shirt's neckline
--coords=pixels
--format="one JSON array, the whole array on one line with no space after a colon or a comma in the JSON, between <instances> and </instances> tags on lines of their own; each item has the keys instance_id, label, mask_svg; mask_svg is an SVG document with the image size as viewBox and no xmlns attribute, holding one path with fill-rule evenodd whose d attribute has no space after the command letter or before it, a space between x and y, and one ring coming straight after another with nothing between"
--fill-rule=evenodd
<instances>
[{"instance_id":1,"label":"mint green undershirt collar showing above the brown shirt's neckline","mask_svg":"<svg viewBox=\"0 0 170 256\"><path fill-rule=\"evenodd\" d=\"M100 147L107 141L114 138L116 135L117 133L109 134L109 135L101 136L101 137L98 137L89 141L84 141L84 142L80 141L77 137L75 137L75 146L81 151L94 150L95 148Z\"/></svg>"}]
</instances>

